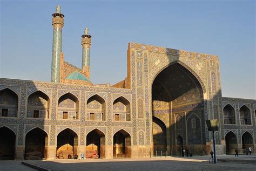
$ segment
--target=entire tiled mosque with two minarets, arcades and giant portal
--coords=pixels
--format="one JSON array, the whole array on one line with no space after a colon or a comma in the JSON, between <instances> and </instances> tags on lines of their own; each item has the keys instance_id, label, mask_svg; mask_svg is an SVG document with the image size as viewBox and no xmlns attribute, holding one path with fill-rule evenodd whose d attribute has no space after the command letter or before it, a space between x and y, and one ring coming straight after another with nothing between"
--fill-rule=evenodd
<instances>
[{"instance_id":1,"label":"entire tiled mosque with two minarets, arcades and giant portal","mask_svg":"<svg viewBox=\"0 0 256 171\"><path fill-rule=\"evenodd\" d=\"M127 77L90 81L91 35L82 67L64 61L60 6L52 14L51 82L0 78L0 160L151 158L256 147L256 100L222 97L219 58L129 43Z\"/></svg>"}]
</instances>

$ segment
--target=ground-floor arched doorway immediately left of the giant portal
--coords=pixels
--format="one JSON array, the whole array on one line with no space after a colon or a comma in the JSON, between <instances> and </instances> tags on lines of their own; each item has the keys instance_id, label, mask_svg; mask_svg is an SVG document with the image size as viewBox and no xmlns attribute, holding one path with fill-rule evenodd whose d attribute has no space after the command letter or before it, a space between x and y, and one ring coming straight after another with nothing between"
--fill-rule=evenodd
<instances>
[{"instance_id":1,"label":"ground-floor arched doorway immediately left of the giant portal","mask_svg":"<svg viewBox=\"0 0 256 171\"><path fill-rule=\"evenodd\" d=\"M131 135L124 131L124 129L121 129L113 136L113 157L131 157Z\"/></svg>"}]
</instances>

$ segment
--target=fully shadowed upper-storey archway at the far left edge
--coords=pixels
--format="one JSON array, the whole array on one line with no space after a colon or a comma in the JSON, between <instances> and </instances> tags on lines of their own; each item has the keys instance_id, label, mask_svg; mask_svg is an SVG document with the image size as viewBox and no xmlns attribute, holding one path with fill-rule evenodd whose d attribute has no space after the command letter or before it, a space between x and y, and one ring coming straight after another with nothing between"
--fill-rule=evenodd
<instances>
[{"instance_id":1,"label":"fully shadowed upper-storey archway at the far left edge","mask_svg":"<svg viewBox=\"0 0 256 171\"><path fill-rule=\"evenodd\" d=\"M18 95L5 88L0 91L0 117L17 117Z\"/></svg>"}]
</instances>

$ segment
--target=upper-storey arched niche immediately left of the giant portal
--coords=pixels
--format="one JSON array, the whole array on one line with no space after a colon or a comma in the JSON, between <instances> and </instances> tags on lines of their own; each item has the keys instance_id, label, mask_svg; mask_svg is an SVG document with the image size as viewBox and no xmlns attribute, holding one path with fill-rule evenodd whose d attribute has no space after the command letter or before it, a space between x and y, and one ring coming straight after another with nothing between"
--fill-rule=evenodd
<instances>
[{"instance_id":1,"label":"upper-storey arched niche immediately left of the giant portal","mask_svg":"<svg viewBox=\"0 0 256 171\"><path fill-rule=\"evenodd\" d=\"M131 121L130 102L119 97L113 102L114 121Z\"/></svg>"}]
</instances>

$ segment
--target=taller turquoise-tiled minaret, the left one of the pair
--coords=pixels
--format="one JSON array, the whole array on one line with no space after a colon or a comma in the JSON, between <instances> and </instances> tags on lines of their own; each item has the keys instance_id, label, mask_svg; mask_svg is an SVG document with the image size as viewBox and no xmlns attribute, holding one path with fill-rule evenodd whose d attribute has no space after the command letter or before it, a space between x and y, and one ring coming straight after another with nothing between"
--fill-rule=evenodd
<instances>
[{"instance_id":1,"label":"taller turquoise-tiled minaret, the left one of the pair","mask_svg":"<svg viewBox=\"0 0 256 171\"><path fill-rule=\"evenodd\" d=\"M60 13L60 6L57 5L56 13L52 14L53 40L52 40L52 60L51 60L51 82L60 81L60 52L62 52L62 28L64 25L64 15Z\"/></svg>"}]
</instances>

